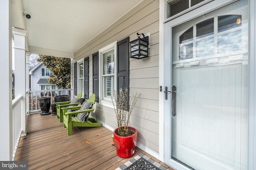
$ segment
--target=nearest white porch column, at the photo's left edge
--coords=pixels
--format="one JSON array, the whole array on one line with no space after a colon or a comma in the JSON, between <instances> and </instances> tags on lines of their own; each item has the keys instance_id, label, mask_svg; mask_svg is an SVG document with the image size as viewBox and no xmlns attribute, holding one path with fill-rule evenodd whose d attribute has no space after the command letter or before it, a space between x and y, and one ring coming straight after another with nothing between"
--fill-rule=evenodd
<instances>
[{"instance_id":1,"label":"nearest white porch column, at the photo's left edge","mask_svg":"<svg viewBox=\"0 0 256 170\"><path fill-rule=\"evenodd\" d=\"M0 160L12 160L12 6L0 1L1 145Z\"/></svg>"}]
</instances>

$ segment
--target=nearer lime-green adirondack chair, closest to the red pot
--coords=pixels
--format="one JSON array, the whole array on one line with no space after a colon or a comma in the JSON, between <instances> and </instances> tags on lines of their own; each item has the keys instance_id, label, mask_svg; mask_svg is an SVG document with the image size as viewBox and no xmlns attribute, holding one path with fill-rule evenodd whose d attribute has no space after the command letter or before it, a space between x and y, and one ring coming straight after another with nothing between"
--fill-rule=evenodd
<instances>
[{"instance_id":1,"label":"nearer lime-green adirondack chair, closest to the red pot","mask_svg":"<svg viewBox=\"0 0 256 170\"><path fill-rule=\"evenodd\" d=\"M92 102L91 109L87 110L78 110L78 111L71 111L68 112L68 109L79 109L80 106L73 106L73 107L62 107L63 109L63 124L64 128L68 129L68 136L72 135L72 127L100 127L102 123L96 122L95 119L89 118L90 112L94 111L93 105L95 103L95 94L92 94L87 102ZM88 116L86 117L85 121L82 122L78 119L78 113L88 112ZM75 115L75 116L72 116Z\"/></svg>"}]
</instances>

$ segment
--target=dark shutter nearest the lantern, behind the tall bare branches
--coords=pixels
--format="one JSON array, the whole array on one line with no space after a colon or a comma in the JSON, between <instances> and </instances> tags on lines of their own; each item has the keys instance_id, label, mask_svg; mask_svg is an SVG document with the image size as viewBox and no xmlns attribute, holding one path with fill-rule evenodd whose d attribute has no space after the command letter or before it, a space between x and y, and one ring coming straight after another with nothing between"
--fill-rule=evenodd
<instances>
[{"instance_id":1,"label":"dark shutter nearest the lantern, behind the tall bare branches","mask_svg":"<svg viewBox=\"0 0 256 170\"><path fill-rule=\"evenodd\" d=\"M129 37L117 42L117 91L126 86L129 103Z\"/></svg>"}]
</instances>

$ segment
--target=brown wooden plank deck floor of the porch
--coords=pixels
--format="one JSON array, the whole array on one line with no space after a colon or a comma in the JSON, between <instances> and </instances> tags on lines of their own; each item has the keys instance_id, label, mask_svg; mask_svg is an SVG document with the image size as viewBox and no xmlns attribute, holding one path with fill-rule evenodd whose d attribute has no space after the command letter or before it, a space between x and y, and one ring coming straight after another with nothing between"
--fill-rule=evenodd
<instances>
[{"instance_id":1,"label":"brown wooden plank deck floor of the porch","mask_svg":"<svg viewBox=\"0 0 256 170\"><path fill-rule=\"evenodd\" d=\"M120 158L111 145L112 131L103 126L73 127L68 136L56 115L34 113L26 121L28 134L20 140L15 160L27 160L29 170L114 170L140 153L160 162L139 148L132 158Z\"/></svg>"}]
</instances>

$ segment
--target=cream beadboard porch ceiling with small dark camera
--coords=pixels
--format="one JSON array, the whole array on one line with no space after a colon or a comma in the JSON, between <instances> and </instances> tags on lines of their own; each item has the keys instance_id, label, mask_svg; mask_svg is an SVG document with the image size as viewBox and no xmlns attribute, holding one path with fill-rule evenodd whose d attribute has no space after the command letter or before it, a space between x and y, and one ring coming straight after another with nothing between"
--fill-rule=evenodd
<instances>
[{"instance_id":1,"label":"cream beadboard porch ceiling with small dark camera","mask_svg":"<svg viewBox=\"0 0 256 170\"><path fill-rule=\"evenodd\" d=\"M141 1L12 0L13 26L28 31L27 51L73 58L75 51Z\"/></svg>"}]
</instances>

